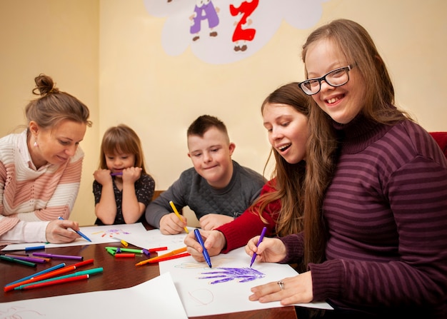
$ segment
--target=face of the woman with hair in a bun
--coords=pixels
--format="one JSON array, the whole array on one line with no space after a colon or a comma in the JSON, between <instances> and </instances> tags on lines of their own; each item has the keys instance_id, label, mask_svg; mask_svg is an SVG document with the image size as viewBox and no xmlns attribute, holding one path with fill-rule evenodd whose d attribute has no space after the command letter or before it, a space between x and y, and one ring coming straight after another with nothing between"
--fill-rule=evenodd
<instances>
[{"instance_id":1,"label":"face of the woman with hair in a bun","mask_svg":"<svg viewBox=\"0 0 447 319\"><path fill-rule=\"evenodd\" d=\"M46 163L59 165L74 156L79 142L86 133L86 123L61 121L55 128L41 129L34 121L29 124L31 134L29 151L34 165L39 168ZM33 146L34 141L38 146Z\"/></svg>"}]
</instances>

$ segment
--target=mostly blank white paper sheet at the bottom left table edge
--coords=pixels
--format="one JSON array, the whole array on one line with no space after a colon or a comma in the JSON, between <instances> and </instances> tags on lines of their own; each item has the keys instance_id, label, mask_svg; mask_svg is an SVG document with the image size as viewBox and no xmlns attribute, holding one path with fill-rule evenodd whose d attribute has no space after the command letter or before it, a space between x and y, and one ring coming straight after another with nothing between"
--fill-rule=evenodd
<instances>
[{"instance_id":1,"label":"mostly blank white paper sheet at the bottom left table edge","mask_svg":"<svg viewBox=\"0 0 447 319\"><path fill-rule=\"evenodd\" d=\"M132 288L0 303L0 318L187 319L188 317L171 275L164 273Z\"/></svg>"}]
</instances>

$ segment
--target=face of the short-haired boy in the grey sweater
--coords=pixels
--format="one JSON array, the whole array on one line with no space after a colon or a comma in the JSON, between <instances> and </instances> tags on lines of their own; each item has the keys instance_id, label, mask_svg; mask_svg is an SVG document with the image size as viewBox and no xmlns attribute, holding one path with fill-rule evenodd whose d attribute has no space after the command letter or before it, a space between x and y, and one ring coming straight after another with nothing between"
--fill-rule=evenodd
<instances>
[{"instance_id":1,"label":"face of the short-haired boy in the grey sweater","mask_svg":"<svg viewBox=\"0 0 447 319\"><path fill-rule=\"evenodd\" d=\"M216 127L209 128L204 136L188 136L188 156L196 172L214 188L224 188L233 176L234 143Z\"/></svg>"}]
</instances>

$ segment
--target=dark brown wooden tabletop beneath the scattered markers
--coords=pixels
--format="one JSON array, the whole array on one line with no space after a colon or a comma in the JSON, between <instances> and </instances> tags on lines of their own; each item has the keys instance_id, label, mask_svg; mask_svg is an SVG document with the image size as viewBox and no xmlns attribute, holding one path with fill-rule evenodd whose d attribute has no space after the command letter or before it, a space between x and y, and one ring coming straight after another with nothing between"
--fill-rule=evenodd
<instances>
[{"instance_id":1,"label":"dark brown wooden tabletop beneath the scattered markers","mask_svg":"<svg viewBox=\"0 0 447 319\"><path fill-rule=\"evenodd\" d=\"M130 288L139 283L144 283L147 280L155 278L160 275L159 265L157 263L143 266L136 266L135 264L141 260L145 260L145 255L136 254L135 258L114 258L107 253L106 246L120 247L119 243L106 243L94 245L79 245L60 248L47 248L46 253L53 253L59 255L81 255L84 260L94 259L94 263L88 266L79 268L79 270L86 270L91 268L102 267L104 272L101 274L91 275L89 280L81 280L74 283L64 283L62 285L54 285L51 288L37 288L31 290L14 290L0 293L0 302L10 302L16 300L24 300L31 298L44 298L55 295L70 295L74 293L87 293L90 291L112 290L119 288ZM129 245L129 248L134 248ZM4 253L4 252L2 252ZM19 253L19 252L17 252ZM23 253L23 250L21 251ZM151 257L156 256L154 253ZM32 273L49 268L53 265L65 262L66 265L78 263L78 260L51 260L51 263L38 264L36 268L31 268L26 265L19 265L16 263L8 263L0 261L0 284L4 287L7 283L11 283L20 278L24 278ZM166 300L169 297L166 297ZM228 305L231 308L231 305ZM293 307L271 308L264 310L253 310L239 313L228 313L223 315L209 315L204 317L195 317L201 319L296 319L296 313Z\"/></svg>"}]
</instances>

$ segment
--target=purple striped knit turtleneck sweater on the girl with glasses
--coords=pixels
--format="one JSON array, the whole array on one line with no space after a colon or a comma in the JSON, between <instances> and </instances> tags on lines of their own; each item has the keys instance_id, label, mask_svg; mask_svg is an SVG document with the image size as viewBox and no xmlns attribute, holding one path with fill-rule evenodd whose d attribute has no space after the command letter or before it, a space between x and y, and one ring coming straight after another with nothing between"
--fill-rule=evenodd
<instances>
[{"instance_id":1,"label":"purple striped knit turtleneck sweater on the girl with glasses","mask_svg":"<svg viewBox=\"0 0 447 319\"><path fill-rule=\"evenodd\" d=\"M447 161L416 123L357 118L323 202L326 261L310 264L314 300L375 314L447 318ZM302 234L281 238L283 263Z\"/></svg>"}]
</instances>

